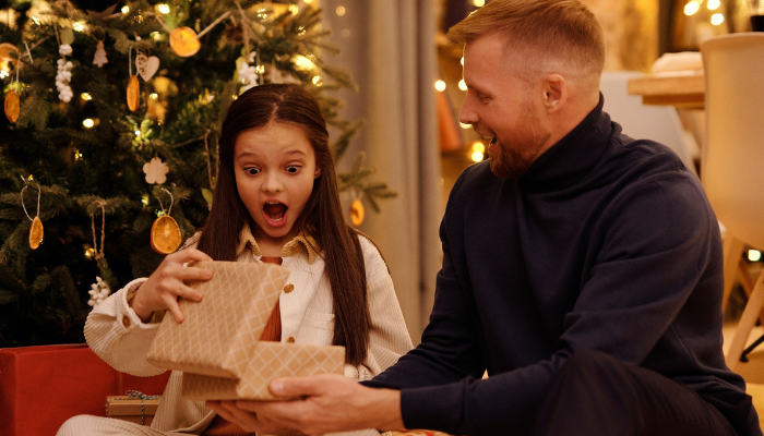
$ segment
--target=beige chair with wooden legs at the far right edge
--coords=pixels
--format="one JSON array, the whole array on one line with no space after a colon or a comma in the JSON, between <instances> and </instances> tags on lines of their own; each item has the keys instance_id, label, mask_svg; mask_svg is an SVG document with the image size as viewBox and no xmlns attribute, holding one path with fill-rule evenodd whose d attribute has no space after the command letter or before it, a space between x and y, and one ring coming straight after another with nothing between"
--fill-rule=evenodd
<instances>
[{"instance_id":1,"label":"beige chair with wooden legs at the far right edge","mask_svg":"<svg viewBox=\"0 0 764 436\"><path fill-rule=\"evenodd\" d=\"M706 81L706 144L701 179L725 238L725 302L745 245L764 249L764 33L714 37L701 45ZM743 284L750 279L743 276ZM736 371L764 307L764 275L728 349Z\"/></svg>"}]
</instances>

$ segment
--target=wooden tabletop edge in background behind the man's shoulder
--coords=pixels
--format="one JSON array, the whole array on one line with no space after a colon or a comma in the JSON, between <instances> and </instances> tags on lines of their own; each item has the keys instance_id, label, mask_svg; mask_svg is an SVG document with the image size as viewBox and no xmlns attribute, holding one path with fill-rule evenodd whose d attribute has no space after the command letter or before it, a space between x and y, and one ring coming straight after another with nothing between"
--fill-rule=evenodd
<instances>
[{"instance_id":1,"label":"wooden tabletop edge in background behind the man's shoulder","mask_svg":"<svg viewBox=\"0 0 764 436\"><path fill-rule=\"evenodd\" d=\"M645 105L675 106L681 109L705 107L705 76L646 74L629 81L629 94L641 95Z\"/></svg>"}]
</instances>

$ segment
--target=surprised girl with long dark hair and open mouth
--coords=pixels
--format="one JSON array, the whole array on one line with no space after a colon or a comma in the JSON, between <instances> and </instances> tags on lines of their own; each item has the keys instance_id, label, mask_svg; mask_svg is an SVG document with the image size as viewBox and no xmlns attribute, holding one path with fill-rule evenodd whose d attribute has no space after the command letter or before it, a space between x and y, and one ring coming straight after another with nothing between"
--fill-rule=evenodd
<instances>
[{"instance_id":1,"label":"surprised girl with long dark hair and open mouth","mask_svg":"<svg viewBox=\"0 0 764 436\"><path fill-rule=\"evenodd\" d=\"M395 363L411 341L382 256L344 221L329 133L313 96L298 85L247 90L223 123L219 157L205 227L151 277L133 280L93 310L85 324L93 351L121 372L162 373L145 361L158 320L167 311L182 322L178 299L203 299L184 282L212 277L208 269L183 265L271 262L291 275L261 340L344 346L345 375L357 380ZM244 434L203 401L182 400L182 376L170 375L151 428L81 415L58 434Z\"/></svg>"}]
</instances>

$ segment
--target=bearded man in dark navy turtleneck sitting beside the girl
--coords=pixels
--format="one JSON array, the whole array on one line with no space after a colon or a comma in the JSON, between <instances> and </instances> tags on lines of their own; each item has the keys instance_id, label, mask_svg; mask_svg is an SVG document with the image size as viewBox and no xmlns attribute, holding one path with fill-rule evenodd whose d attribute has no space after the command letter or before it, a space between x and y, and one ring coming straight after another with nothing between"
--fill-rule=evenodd
<instances>
[{"instance_id":1,"label":"bearded man in dark navy turtleneck sitting beside the girl","mask_svg":"<svg viewBox=\"0 0 764 436\"><path fill-rule=\"evenodd\" d=\"M490 164L452 190L421 344L367 386L280 379L305 399L211 405L264 433L761 435L721 353L714 213L676 155L602 112L590 11L494 0L449 36Z\"/></svg>"}]
</instances>

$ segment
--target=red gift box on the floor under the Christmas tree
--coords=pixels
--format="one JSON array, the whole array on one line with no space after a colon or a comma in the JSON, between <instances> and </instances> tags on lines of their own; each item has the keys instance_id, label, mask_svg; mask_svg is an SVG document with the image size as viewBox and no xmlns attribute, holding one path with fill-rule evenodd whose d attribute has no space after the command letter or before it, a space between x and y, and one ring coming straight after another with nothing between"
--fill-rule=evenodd
<instances>
[{"instance_id":1,"label":"red gift box on the floor under the Christmas tree","mask_svg":"<svg viewBox=\"0 0 764 436\"><path fill-rule=\"evenodd\" d=\"M0 349L0 435L53 436L68 419L104 416L107 396L160 395L170 373L119 373L87 344Z\"/></svg>"}]
</instances>

